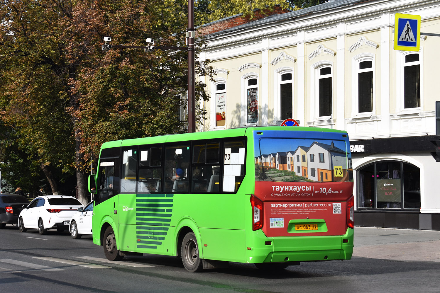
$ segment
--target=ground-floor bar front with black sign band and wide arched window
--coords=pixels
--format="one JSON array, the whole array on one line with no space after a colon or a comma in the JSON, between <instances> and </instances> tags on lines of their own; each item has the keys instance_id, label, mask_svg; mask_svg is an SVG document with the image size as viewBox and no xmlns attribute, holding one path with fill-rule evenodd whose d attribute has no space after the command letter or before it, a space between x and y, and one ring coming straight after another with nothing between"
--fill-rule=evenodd
<instances>
[{"instance_id":1,"label":"ground-floor bar front with black sign band and wide arched window","mask_svg":"<svg viewBox=\"0 0 440 293\"><path fill-rule=\"evenodd\" d=\"M438 141L434 135L350 141L357 226L440 230L440 213L421 212L422 198L437 195L421 194L424 181L420 175L421 168L425 172L440 170ZM415 166L402 160L402 155L422 157L430 164ZM366 157L372 159L356 164Z\"/></svg>"}]
</instances>

